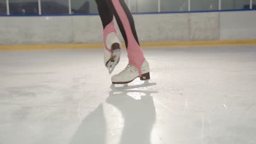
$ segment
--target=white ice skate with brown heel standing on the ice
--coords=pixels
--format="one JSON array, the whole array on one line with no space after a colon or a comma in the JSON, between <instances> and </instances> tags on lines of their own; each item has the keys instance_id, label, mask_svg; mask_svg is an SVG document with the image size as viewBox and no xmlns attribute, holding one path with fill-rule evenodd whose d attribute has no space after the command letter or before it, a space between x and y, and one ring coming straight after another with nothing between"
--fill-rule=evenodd
<instances>
[{"instance_id":1,"label":"white ice skate with brown heel standing on the ice","mask_svg":"<svg viewBox=\"0 0 256 144\"><path fill-rule=\"evenodd\" d=\"M149 64L147 61L144 61L142 64L142 75L140 79L142 81L149 80L150 74L149 74ZM137 77L139 77L138 70L131 64L128 64L127 67L121 71L119 74L112 76L111 80L114 84L125 84L132 82Z\"/></svg>"}]
</instances>

